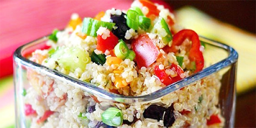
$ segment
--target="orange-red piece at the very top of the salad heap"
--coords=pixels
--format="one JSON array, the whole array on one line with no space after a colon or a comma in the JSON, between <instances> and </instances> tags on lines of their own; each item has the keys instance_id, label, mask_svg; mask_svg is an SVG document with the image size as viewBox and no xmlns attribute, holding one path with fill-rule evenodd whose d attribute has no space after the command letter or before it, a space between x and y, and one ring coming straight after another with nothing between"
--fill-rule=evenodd
<instances>
[{"instance_id":1,"label":"orange-red piece at the very top of the salad heap","mask_svg":"<svg viewBox=\"0 0 256 128\"><path fill-rule=\"evenodd\" d=\"M150 15L156 15L156 16L159 15L160 11L157 10L157 6L154 3L148 0L139 0L139 1L143 6L146 6L148 8L148 13L146 15L147 17L150 17Z\"/></svg>"}]
</instances>

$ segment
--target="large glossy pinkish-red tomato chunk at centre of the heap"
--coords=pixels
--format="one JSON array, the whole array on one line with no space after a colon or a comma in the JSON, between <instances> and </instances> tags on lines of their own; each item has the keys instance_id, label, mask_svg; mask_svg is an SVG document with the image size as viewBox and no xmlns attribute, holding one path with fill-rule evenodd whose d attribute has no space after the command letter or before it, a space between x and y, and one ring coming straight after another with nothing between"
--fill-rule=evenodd
<instances>
[{"instance_id":1,"label":"large glossy pinkish-red tomato chunk at centre of the heap","mask_svg":"<svg viewBox=\"0 0 256 128\"><path fill-rule=\"evenodd\" d=\"M156 61L159 51L148 35L140 35L132 40L132 50L135 52L138 67L148 67Z\"/></svg>"}]
</instances>

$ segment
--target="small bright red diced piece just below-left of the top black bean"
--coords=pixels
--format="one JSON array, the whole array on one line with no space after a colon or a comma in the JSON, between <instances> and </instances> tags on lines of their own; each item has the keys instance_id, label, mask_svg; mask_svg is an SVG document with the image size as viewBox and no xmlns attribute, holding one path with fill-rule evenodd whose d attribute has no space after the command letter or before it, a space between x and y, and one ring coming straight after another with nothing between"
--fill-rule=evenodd
<instances>
[{"instance_id":1,"label":"small bright red diced piece just below-left of the top black bean","mask_svg":"<svg viewBox=\"0 0 256 128\"><path fill-rule=\"evenodd\" d=\"M112 51L115 48L115 45L118 44L118 37L116 37L111 31L109 35L110 36L105 40L102 38L102 35L97 36L97 50L104 53L106 50Z\"/></svg>"}]
</instances>

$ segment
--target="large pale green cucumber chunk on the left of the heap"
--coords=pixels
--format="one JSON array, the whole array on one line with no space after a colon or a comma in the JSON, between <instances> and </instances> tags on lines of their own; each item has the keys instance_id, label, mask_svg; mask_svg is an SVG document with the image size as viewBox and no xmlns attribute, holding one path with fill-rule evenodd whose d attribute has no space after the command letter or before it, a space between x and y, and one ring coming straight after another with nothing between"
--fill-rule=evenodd
<instances>
[{"instance_id":1,"label":"large pale green cucumber chunk on the left of the heap","mask_svg":"<svg viewBox=\"0 0 256 128\"><path fill-rule=\"evenodd\" d=\"M56 61L60 67L74 72L76 68L84 70L91 58L87 51L79 47L60 47L52 54L49 61Z\"/></svg>"}]
</instances>

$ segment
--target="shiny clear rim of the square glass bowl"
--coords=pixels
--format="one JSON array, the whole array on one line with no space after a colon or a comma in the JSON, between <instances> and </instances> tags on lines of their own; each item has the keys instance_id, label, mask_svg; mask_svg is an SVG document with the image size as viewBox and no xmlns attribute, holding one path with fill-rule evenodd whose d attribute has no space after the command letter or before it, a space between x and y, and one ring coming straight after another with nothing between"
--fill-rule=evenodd
<instances>
[{"instance_id":1,"label":"shiny clear rim of the square glass bowl","mask_svg":"<svg viewBox=\"0 0 256 128\"><path fill-rule=\"evenodd\" d=\"M102 88L99 88L97 86L94 86L92 83L86 83L84 81L81 81L79 79L76 79L74 77L68 76L66 74L63 74L61 72L58 72L57 70L53 70L51 68L45 67L43 65L40 65L38 63L35 63L33 61L28 60L27 58L24 58L22 56L22 51L28 47L31 47L32 45L40 44L42 42L45 42L48 40L48 36L44 36L43 38L39 38L37 40L34 40L32 42L29 42L28 44L21 45L13 54L13 60L16 63L21 63L22 65L26 65L29 68L33 68L35 70L38 70L39 72L42 72L46 74L47 76L54 77L55 79L60 79L61 81L71 84L72 86L76 86L78 88L81 88L81 90L86 91L88 93L91 93L93 95L97 95L99 97L104 97L104 99L116 101L116 102L123 102L123 103L134 103L134 102L152 102L153 100L159 99L163 97L164 95L167 95L168 93L172 93L175 90L179 90L180 88L183 88L184 86L187 86L191 83L194 83L195 81L198 81L199 79L202 79L204 77L210 76L214 72L217 72L221 70L222 68L228 67L229 65L232 65L233 63L237 62L238 54L235 49L230 47L229 45L222 44L220 42L216 42L210 39L207 39L203 36L200 36L200 40L206 42L209 45L214 45L216 47L220 47L221 49L224 49L228 52L228 57L218 61L217 63L214 63L213 65L204 68L200 72L196 72L195 74L185 77L184 79L177 81L176 83L172 83L164 88L161 88L160 90L157 90L156 92L149 93L147 95L140 95L140 96L125 96L125 95L119 95L116 93L108 92L107 90L104 90ZM13 63L15 63L13 62Z\"/></svg>"}]
</instances>

